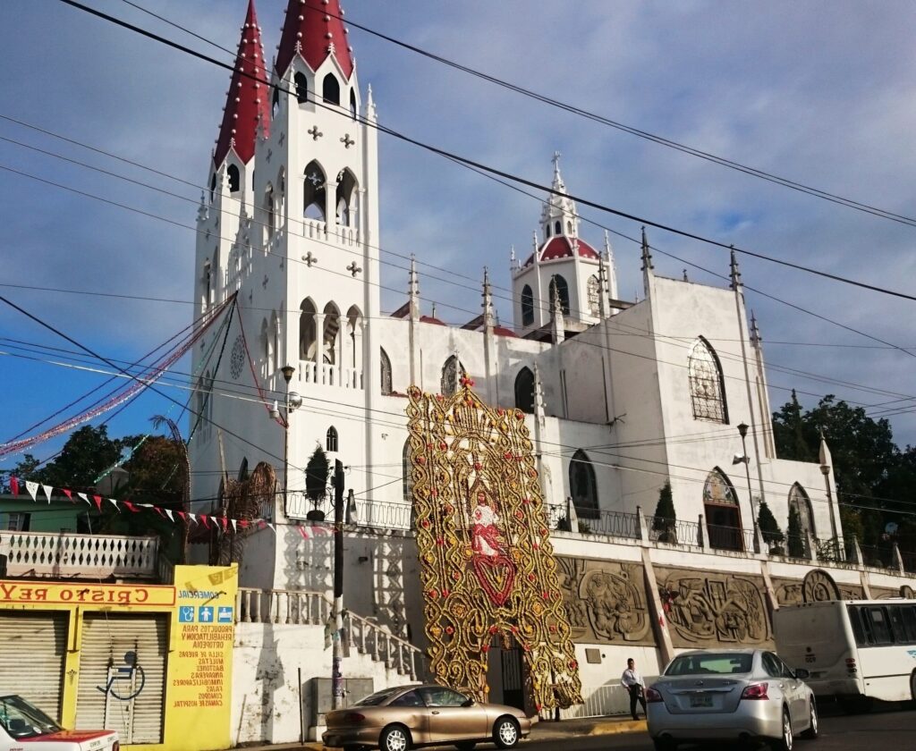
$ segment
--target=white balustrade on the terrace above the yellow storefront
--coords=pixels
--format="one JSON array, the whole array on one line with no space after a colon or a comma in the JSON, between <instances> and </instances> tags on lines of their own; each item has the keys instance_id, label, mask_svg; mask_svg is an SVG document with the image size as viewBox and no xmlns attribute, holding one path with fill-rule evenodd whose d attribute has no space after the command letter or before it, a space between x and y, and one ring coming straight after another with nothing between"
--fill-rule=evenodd
<instances>
[{"instance_id":1,"label":"white balustrade on the terrace above the yellow storefront","mask_svg":"<svg viewBox=\"0 0 916 751\"><path fill-rule=\"evenodd\" d=\"M0 532L7 576L155 579L158 538Z\"/></svg>"}]
</instances>

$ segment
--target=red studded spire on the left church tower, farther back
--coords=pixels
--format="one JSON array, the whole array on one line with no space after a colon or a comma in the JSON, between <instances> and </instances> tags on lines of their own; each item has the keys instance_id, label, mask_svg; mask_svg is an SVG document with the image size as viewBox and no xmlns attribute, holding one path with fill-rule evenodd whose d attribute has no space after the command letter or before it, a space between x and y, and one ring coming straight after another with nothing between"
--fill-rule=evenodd
<instances>
[{"instance_id":1,"label":"red studded spire on the left church tower, farther back","mask_svg":"<svg viewBox=\"0 0 916 751\"><path fill-rule=\"evenodd\" d=\"M220 126L220 137L213 152L217 166L223 163L232 148L245 164L255 155L258 120L265 134L270 128L270 85L267 81L267 65L264 61L264 46L261 44L261 29L257 26L255 0L248 0L248 13L238 43L223 125Z\"/></svg>"}]
</instances>

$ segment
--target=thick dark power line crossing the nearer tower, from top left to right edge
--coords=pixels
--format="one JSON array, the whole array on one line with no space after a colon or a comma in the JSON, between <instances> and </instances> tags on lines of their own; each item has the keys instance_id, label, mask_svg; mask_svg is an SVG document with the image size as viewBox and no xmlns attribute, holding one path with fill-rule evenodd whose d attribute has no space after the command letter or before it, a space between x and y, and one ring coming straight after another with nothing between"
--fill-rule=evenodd
<instances>
[{"instance_id":1,"label":"thick dark power line crossing the nearer tower, from top left to right edge","mask_svg":"<svg viewBox=\"0 0 916 751\"><path fill-rule=\"evenodd\" d=\"M195 49L191 49L190 47L186 47L185 45L182 45L182 44L180 44L179 42L173 41L173 40L171 40L171 39L169 39L169 38L161 37L161 36L159 36L158 34L155 34L155 33L151 32L151 31L149 31L149 30L147 30L147 29L145 29L145 28L137 27L137 26L135 26L134 24L130 24L130 23L128 23L128 22L126 22L126 21L124 21L124 20L122 20L122 19L120 19L120 18L116 18L115 16L109 16L108 14L103 13L102 11L99 11L99 10L96 10L96 9L94 9L94 8L92 8L92 7L89 7L88 5L82 5L82 3L78 3L78 2L76 2L75 0L59 0L59 2L60 2L60 3L63 3L64 5L71 5L72 7L77 8L77 9L79 9L79 10L82 10L82 11L85 12L85 13L88 13L88 14L90 14L90 15L92 15L92 16L97 16L97 17L99 17L99 18L102 18L102 19L104 19L105 21L108 21L109 23L113 23L113 24L115 24L116 26L123 27L123 28L125 28L125 29L130 30L130 31L133 31L133 32L135 32L136 34L140 34L140 35L142 35L142 36L144 36L144 37L146 37L146 38L153 39L154 41L157 41L157 42L159 42L160 44L164 44L164 45L166 45L166 46L168 46L168 47L170 47L170 48L172 48L172 49L177 49L177 50L179 50L179 51L181 51L181 52L184 52L185 54L191 55L192 57L195 57L195 58L197 58L197 59L199 59L199 60L204 60L204 61L206 61L206 62L210 62L211 64L217 65L217 66L219 66L220 68L223 68L224 70L227 70L227 71L234 71L234 70L235 70L235 66L234 66L233 64L225 63L225 62L223 62L222 60L217 60L216 58L213 58L213 57L211 57L211 56L209 56L209 55L205 55L204 53L199 52L199 51L197 51L197 50L195 50ZM258 78L256 75L254 75L254 74L248 73L248 72L246 72L246 71L239 71L239 72L240 72L240 75L245 76L245 78L249 78L249 79L251 79L251 80L253 80L253 81L256 81L256 82L259 82L259 83L263 83L263 84L266 84L267 86L270 86L271 88L280 88L277 84L274 84L274 83L272 83L272 82L269 82L269 81L266 81L266 80L263 80L263 79L259 79L259 78ZM284 89L283 91L286 91L286 90ZM286 92L286 93L289 93L289 92ZM340 116L344 116L344 114L337 112L337 108L335 108L335 107L333 107L333 106L328 106L328 105L325 105L325 104L319 103L319 102L315 102L315 104L316 104L317 106L321 106L323 109L327 109L327 110L329 110L329 111L332 111L332 112L334 112L335 114L338 114L338 115L340 115ZM354 115L353 115L353 114L347 113L345 116L348 117L348 118L350 118L350 119L354 119ZM791 261L787 261L787 260L784 260L784 259L781 259L781 258L776 258L776 257L773 257L773 256L766 256L765 254L757 253L757 252L754 252L754 251L751 251L751 250L747 250L747 249L745 249L745 248L740 248L740 247L737 247L736 245L730 245L730 244L726 244L726 243L724 243L724 242L720 242L720 241L718 241L718 240L713 240L712 238L704 237L704 236L701 235L701 234L696 234L696 233L688 232L688 231L686 231L686 230L681 230L681 229L678 229L678 228L676 228L676 227L673 227L673 226L671 226L671 225L669 225L669 224L665 224L665 223L661 223L661 222L655 222L655 221L649 220L649 219L647 219L647 218L645 218L645 217L641 217L641 216L638 216L638 215L636 215L636 214L632 214L632 213L629 213L629 212L622 212L622 211L619 211L619 210L617 210L617 209L613 209L613 208L611 208L610 206L606 206L605 204L598 203L597 201L590 201L590 200L588 200L588 199L585 199L585 198L583 198L583 197L579 197L579 196L576 196L576 195L573 195L573 194L561 193L559 190L554 190L552 187L547 187L547 186L541 185L540 183L537 183L537 182L535 182L535 181L533 181L533 180L526 180L525 178L519 177L518 175L513 175L513 174L511 174L511 173L509 173L509 172L507 172L507 171L505 171L505 170L496 169L496 168L494 168L494 167L490 167L490 166L488 166L488 165L485 165L485 164L482 163L482 162L475 161L474 159L470 159L470 158L466 158L466 157L460 157L460 156L458 156L458 155L456 155L456 154L453 154L452 152L449 152L449 151L446 150L446 149L443 149L443 148L440 148L440 147L432 146L431 144L428 144L428 143L425 143L425 142L423 142L423 141L420 141L420 140L417 139L417 138L414 138L414 137L411 137L411 136L407 136L406 134L403 134L403 133L401 133L401 132L399 132L399 131L397 131L397 130L394 130L393 128L387 127L386 125L379 125L379 124L376 123L376 122L372 122L371 120L369 120L368 118L363 117L362 115L355 115L355 119L356 119L358 122L360 122L360 123L362 123L362 124L364 124L364 125L366 125L366 126L368 126L368 127L375 128L376 130L378 130L378 131L381 132L381 133L386 134L387 136L392 136L392 137L394 137L394 138L397 138L397 139L400 140L400 141L403 141L404 143L407 143L407 144L410 144L410 145L412 145L412 146L419 147L419 148L421 148L421 149L423 149L423 150L429 151L429 152L432 153L432 154L436 154L436 155L438 155L438 156L440 156L440 157L443 157L443 158L453 159L453 160L455 160L455 161L457 161L457 162L460 162L461 164L463 164L463 165L465 165L465 166L474 167L474 168L476 168L476 169L483 169L483 170L485 170L486 172L488 172L488 173L490 173L490 174L496 175L496 176L501 177L501 178L505 178L506 180L513 180L514 182L518 182L519 184L527 185L529 188L534 188L534 189L536 189L536 190L544 190L544 191L547 191L547 192L551 193L551 195L562 195L562 196L567 196L567 195L568 195L568 197L569 197L570 199L572 199L573 201L577 201L577 202L579 202L579 203L582 203L582 204L585 205L585 206L590 206L591 208L597 209L598 211L611 213L611 214L614 214L615 216L619 216L619 217L621 217L621 218L623 218L623 219L628 219L628 220L633 221L633 222L638 222L638 223L642 223L642 224L649 225L649 226L651 226L651 227L656 227L657 229L663 230L664 232L669 232L669 233L671 233L671 234L677 234L677 235L680 235L680 236L682 236L682 237L686 237L686 238L689 238L689 239L696 240L696 241L698 241L698 242L704 243L704 244L706 244L706 245L713 245L714 247L719 247L719 248L723 248L723 249L725 249L725 250L734 251L734 252L736 252L736 253L741 253L741 254L743 254L743 255L745 255L745 256L751 256L751 257L754 257L754 258L758 258L758 259L760 259L760 260L769 261L770 263L778 264L778 265L783 266L783 267L793 268L793 269L795 269L795 270L797 270L797 271L803 271L803 272L805 272L805 273L812 274L812 275L814 275L814 276L818 276L818 277L822 277L822 278L828 278L828 279L831 279L831 280L836 281L836 282L841 282L841 283L848 284L848 285L851 285L851 286L854 286L854 287L858 287L858 288L869 289L869 290L871 290L871 291L873 291L873 292L879 292L879 293L881 293L881 294L890 295L890 296L898 297L898 298L901 298L901 299L909 299L909 300L912 300L912 301L916 301L916 296L907 294L907 293L905 293L905 292L900 292L900 291L898 291L898 290L889 289L889 288L878 287L877 285L868 284L867 282L859 281L859 280L852 279L852 278L842 277L842 276L840 276L840 275L838 275L838 274L832 274L832 273L830 273L830 272L823 271L823 270L819 270L819 269L815 269L815 268L812 268L812 267L805 267L805 266L802 266L801 264L792 263Z\"/></svg>"}]
</instances>

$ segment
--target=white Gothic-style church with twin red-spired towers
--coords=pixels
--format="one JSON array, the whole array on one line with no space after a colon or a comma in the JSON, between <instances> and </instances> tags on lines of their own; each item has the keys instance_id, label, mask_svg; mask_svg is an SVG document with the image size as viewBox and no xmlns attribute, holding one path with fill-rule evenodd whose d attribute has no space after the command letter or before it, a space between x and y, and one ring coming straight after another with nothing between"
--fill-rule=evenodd
<instances>
[{"instance_id":1,"label":"white Gothic-style church with twin red-spired towers","mask_svg":"<svg viewBox=\"0 0 916 751\"><path fill-rule=\"evenodd\" d=\"M195 316L237 299L229 332L213 326L194 352L194 404L205 419L190 444L191 497L217 497L223 468L234 477L264 461L282 478L284 457L288 467L287 487L280 479L276 502L262 510L276 531L250 532L240 584L330 586L330 538L314 532L304 495L304 468L321 446L344 463L354 491L347 607L422 647L406 394L414 385L450 392L461 374L486 402L526 414L558 555L649 570L649 546L656 564L758 575L768 555L755 524L761 501L783 531L798 509L809 555L818 540L842 550L826 445L816 464L776 455L763 344L734 258L730 286L716 287L658 276L645 233L641 257L615 257L606 237L583 233L565 182L574 176L562 175L559 155L540 216L531 216L533 244L519 238L529 254L490 272L512 289L511 324L496 321L486 274L473 320L439 320L415 267L402 279L403 305L381 310L386 178L375 125L384 93L376 103L361 87L341 16L338 0L290 0L270 60L249 5L198 212ZM545 159L545 178L546 168ZM638 300L620 299L616 265L636 263L643 289ZM275 402L280 419L271 418ZM677 524L657 552L665 530L651 515L665 484ZM333 514L330 502L322 510ZM645 595L655 604L657 573ZM647 674L666 655L663 635L655 642L660 651L645 641L642 651L627 647ZM622 656L607 658L611 672ZM580 662L586 693L597 691L607 662L603 671Z\"/></svg>"}]
</instances>

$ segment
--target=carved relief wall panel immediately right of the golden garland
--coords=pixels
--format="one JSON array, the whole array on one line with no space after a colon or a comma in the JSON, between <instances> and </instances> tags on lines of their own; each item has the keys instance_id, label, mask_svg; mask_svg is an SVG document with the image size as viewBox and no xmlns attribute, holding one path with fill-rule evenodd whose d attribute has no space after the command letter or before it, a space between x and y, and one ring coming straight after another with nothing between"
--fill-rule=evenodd
<instances>
[{"instance_id":1,"label":"carved relief wall panel immediately right of the golden garland","mask_svg":"<svg viewBox=\"0 0 916 751\"><path fill-rule=\"evenodd\" d=\"M563 557L557 564L574 642L655 646L641 564Z\"/></svg>"}]
</instances>

